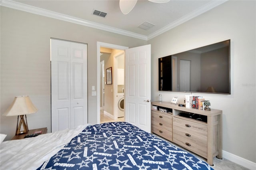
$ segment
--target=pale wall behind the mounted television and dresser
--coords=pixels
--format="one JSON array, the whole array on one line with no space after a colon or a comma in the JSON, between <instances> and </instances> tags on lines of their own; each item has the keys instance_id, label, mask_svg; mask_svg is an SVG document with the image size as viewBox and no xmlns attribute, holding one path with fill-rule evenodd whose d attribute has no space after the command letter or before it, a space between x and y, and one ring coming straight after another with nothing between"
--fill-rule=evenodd
<instances>
[{"instance_id":1,"label":"pale wall behind the mounted television and dresser","mask_svg":"<svg viewBox=\"0 0 256 170\"><path fill-rule=\"evenodd\" d=\"M158 58L231 39L231 95L202 94L223 111L223 150L256 162L256 1L228 1L148 41L152 100L186 93L158 91Z\"/></svg>"}]
</instances>

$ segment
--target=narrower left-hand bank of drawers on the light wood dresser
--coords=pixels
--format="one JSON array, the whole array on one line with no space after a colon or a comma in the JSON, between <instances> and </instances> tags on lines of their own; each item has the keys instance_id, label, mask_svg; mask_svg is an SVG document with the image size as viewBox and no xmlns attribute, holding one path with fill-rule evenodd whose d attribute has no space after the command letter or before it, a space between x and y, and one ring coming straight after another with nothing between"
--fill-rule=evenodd
<instances>
[{"instance_id":1,"label":"narrower left-hand bank of drawers on the light wood dresser","mask_svg":"<svg viewBox=\"0 0 256 170\"><path fill-rule=\"evenodd\" d=\"M172 115L152 111L151 130L155 134L172 141Z\"/></svg>"}]
</instances>

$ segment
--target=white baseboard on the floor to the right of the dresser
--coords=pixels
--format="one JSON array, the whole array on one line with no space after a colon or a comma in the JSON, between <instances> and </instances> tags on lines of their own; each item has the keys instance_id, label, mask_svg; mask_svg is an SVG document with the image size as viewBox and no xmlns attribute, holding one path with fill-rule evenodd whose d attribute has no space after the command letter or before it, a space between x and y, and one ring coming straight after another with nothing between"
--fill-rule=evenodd
<instances>
[{"instance_id":1,"label":"white baseboard on the floor to the right of the dresser","mask_svg":"<svg viewBox=\"0 0 256 170\"><path fill-rule=\"evenodd\" d=\"M226 152L224 150L222 150L222 156L223 156L223 158L225 158L227 160L230 160L232 162L235 162L236 164L244 166L244 167L246 167L250 170L255 170L256 169L256 163L255 162L244 159L240 156L234 155L234 154Z\"/></svg>"}]
</instances>

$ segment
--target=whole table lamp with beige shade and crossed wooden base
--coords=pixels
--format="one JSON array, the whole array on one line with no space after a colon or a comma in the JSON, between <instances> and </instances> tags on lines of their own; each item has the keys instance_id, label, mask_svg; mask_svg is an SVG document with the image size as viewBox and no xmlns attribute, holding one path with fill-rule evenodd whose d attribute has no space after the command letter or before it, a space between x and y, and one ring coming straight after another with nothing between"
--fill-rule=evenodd
<instances>
[{"instance_id":1,"label":"whole table lamp with beige shade and crossed wooden base","mask_svg":"<svg viewBox=\"0 0 256 170\"><path fill-rule=\"evenodd\" d=\"M33 105L28 96L16 96L10 107L3 114L4 116L18 116L16 135L28 133L28 123L26 115L36 113L38 109ZM26 122L24 120L26 117ZM20 116L20 123L19 122ZM21 125L23 124L23 131L20 131Z\"/></svg>"}]
</instances>

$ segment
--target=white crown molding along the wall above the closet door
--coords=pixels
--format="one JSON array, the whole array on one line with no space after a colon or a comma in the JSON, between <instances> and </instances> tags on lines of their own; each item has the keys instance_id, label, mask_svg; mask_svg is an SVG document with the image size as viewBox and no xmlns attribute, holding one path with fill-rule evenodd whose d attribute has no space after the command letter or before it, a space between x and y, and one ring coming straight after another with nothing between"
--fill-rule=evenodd
<instances>
[{"instance_id":1,"label":"white crown molding along the wall above the closet door","mask_svg":"<svg viewBox=\"0 0 256 170\"><path fill-rule=\"evenodd\" d=\"M88 21L88 20L82 20L81 18L76 18L76 17L60 14L58 12L53 12L53 11L50 11L50 10L44 10L42 8L37 8L37 7L34 7L34 6L22 4L22 3L19 3L19 2L14 2L14 1L11 1L11 0L1 0L0 5L8 7L8 8L14 8L16 10L30 12L32 14L37 14L37 15L41 15L41 16L55 18L55 19L58 19L58 20L72 22L74 24L80 24L80 25L83 25L83 26L96 28L96 29L99 29L99 30L113 32L113 33L121 34L121 35L124 35L124 36L130 36L130 37L133 37L133 38L148 40L147 36L144 36L144 35L141 35L141 34L136 34L136 33L133 33L133 32L126 31L126 30L106 26L106 25L103 25L103 24L98 24L96 22L91 22L91 21Z\"/></svg>"}]
</instances>

